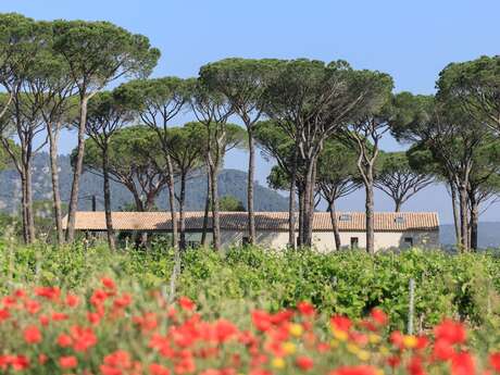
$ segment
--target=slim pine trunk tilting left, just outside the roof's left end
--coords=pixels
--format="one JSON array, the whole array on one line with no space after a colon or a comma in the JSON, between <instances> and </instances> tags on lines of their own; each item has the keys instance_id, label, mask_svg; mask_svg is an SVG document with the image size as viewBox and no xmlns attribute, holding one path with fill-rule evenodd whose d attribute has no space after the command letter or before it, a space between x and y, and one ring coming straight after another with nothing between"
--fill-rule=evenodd
<instances>
[{"instance_id":1,"label":"slim pine trunk tilting left, just outside the roof's left end","mask_svg":"<svg viewBox=\"0 0 500 375\"><path fill-rule=\"evenodd\" d=\"M64 233L62 228L62 209L61 209L61 192L59 189L59 165L58 165L58 142L59 142L59 125L55 129L51 124L47 124L47 133L49 135L49 154L50 154L50 175L52 179L52 210L54 215L55 232L58 245L64 242Z\"/></svg>"}]
</instances>

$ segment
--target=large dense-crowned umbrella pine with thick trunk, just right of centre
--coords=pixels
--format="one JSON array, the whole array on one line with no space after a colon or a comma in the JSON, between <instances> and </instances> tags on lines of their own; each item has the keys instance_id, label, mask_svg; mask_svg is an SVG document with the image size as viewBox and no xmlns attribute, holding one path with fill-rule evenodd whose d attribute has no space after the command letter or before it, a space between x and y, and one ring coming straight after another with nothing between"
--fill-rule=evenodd
<instances>
[{"instance_id":1,"label":"large dense-crowned umbrella pine with thick trunk, just right of centre","mask_svg":"<svg viewBox=\"0 0 500 375\"><path fill-rule=\"evenodd\" d=\"M303 246L311 247L316 164L323 142L371 101L372 85L361 84L362 72L345 61L291 60L278 63L276 70L265 90L264 112L295 141L295 164L300 158L304 165L304 218L299 237ZM292 196L290 207L291 201ZM295 227L292 217L289 226Z\"/></svg>"}]
</instances>

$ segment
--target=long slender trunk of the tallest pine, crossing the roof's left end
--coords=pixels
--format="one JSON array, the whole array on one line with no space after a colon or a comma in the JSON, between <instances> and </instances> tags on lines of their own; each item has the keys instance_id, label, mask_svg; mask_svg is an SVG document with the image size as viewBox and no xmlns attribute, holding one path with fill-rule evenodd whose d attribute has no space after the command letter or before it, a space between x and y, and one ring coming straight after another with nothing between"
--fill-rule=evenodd
<instances>
[{"instance_id":1,"label":"long slender trunk of the tallest pine, crossing the roof's left end","mask_svg":"<svg viewBox=\"0 0 500 375\"><path fill-rule=\"evenodd\" d=\"M66 241L73 242L75 238L75 220L76 211L78 210L78 191L79 191L79 178L84 166L84 154L85 154L85 128L87 126L87 104L88 98L84 97L80 99L80 111L79 111L79 124L78 124L78 146L76 153L76 164L73 174L73 184L71 187L70 207L67 212L67 228L66 228Z\"/></svg>"}]
</instances>

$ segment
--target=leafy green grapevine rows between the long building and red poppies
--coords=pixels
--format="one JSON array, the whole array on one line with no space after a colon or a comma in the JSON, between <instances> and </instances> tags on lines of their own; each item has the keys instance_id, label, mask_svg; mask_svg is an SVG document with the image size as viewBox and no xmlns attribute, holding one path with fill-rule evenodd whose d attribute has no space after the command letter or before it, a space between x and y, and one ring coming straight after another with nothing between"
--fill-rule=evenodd
<instances>
[{"instance_id":1,"label":"leafy green grapevine rows between the long building and red poppies","mask_svg":"<svg viewBox=\"0 0 500 375\"><path fill-rule=\"evenodd\" d=\"M17 247L4 239L0 288L30 282L80 288L103 274L163 287L170 279L173 252L161 249L110 253L99 245L88 249L83 245ZM234 248L221 254L198 249L183 254L178 293L204 301L214 311L241 299L272 310L309 300L327 314L351 317L380 307L395 326L403 328L409 280L414 278L415 324L425 328L452 315L480 325L498 321L499 271L500 260L488 253L450 255L415 249L370 255Z\"/></svg>"}]
</instances>

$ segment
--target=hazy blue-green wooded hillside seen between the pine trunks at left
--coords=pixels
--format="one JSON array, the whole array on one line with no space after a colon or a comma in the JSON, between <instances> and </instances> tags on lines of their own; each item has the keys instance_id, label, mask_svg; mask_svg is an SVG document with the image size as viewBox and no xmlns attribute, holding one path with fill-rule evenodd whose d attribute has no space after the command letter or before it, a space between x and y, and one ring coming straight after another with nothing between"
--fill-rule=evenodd
<instances>
[{"instance_id":1,"label":"hazy blue-green wooded hillside seen between the pine trunks at left","mask_svg":"<svg viewBox=\"0 0 500 375\"><path fill-rule=\"evenodd\" d=\"M34 199L51 199L51 183L49 171L48 154L40 153L34 162ZM70 198L72 168L67 155L60 157L60 179L61 197L63 201ZM207 177L198 176L191 178L187 184L186 210L202 210L207 196ZM15 171L3 171L0 173L0 209L13 212L20 202L20 180ZM85 173L80 185L80 210L90 210L90 196L98 197L98 210L102 209L102 178L91 173ZM239 199L243 204L247 200L247 173L237 170L224 170L218 177L218 195L232 195ZM287 199L259 183L254 185L255 210L257 211L286 211ZM165 192L160 195L157 205L161 209L166 208L167 196ZM112 183L112 208L121 208L133 202L132 195L120 184Z\"/></svg>"}]
</instances>

